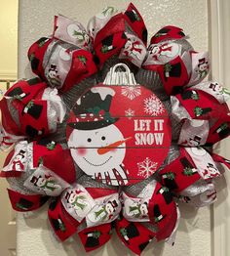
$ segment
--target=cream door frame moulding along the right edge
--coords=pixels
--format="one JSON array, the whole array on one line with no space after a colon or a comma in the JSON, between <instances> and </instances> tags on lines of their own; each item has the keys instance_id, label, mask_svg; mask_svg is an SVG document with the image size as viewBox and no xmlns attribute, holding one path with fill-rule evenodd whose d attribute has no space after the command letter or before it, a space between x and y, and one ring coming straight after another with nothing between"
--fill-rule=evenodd
<instances>
[{"instance_id":1,"label":"cream door frame moulding along the right edge","mask_svg":"<svg viewBox=\"0 0 230 256\"><path fill-rule=\"evenodd\" d=\"M211 80L230 89L230 1L208 0L211 53ZM228 139L229 140L229 139ZM229 157L230 143L217 147L220 155ZM228 154L228 155L227 155ZM230 172L217 181L217 201L211 206L211 256L227 256L230 251Z\"/></svg>"}]
</instances>

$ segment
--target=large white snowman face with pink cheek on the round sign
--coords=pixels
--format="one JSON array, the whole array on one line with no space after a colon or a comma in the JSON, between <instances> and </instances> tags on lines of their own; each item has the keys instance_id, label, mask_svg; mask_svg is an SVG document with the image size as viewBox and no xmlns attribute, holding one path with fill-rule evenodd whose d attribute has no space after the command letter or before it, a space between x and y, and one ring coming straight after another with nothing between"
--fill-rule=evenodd
<instances>
[{"instance_id":1,"label":"large white snowman face with pink cheek on the round sign","mask_svg":"<svg viewBox=\"0 0 230 256\"><path fill-rule=\"evenodd\" d=\"M95 176L105 173L122 164L125 157L125 143L118 148L111 145L124 140L121 131L115 125L96 130L74 129L68 141L71 155L76 164L88 175ZM98 152L104 147L111 149Z\"/></svg>"}]
</instances>

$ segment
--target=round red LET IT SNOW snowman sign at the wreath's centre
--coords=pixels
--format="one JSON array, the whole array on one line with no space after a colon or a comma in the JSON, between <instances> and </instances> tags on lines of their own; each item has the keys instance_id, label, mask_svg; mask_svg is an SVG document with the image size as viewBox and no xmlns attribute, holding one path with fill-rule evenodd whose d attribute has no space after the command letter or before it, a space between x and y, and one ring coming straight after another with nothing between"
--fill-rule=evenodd
<instances>
[{"instance_id":1,"label":"round red LET IT SNOW snowman sign at the wreath's centre","mask_svg":"<svg viewBox=\"0 0 230 256\"><path fill-rule=\"evenodd\" d=\"M131 185L155 173L171 145L163 103L140 85L99 84L70 111L67 143L75 163L107 185Z\"/></svg>"}]
</instances>

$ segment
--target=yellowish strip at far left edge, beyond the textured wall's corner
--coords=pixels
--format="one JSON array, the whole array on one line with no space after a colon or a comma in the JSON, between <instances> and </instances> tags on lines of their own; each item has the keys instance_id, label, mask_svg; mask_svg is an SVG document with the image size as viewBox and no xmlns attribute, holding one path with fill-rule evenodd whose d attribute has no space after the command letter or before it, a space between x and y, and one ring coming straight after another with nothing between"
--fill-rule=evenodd
<instances>
[{"instance_id":1,"label":"yellowish strip at far left edge, beyond the textured wall's corner","mask_svg":"<svg viewBox=\"0 0 230 256\"><path fill-rule=\"evenodd\" d=\"M18 0L0 0L0 80L17 79L18 5ZM0 90L5 92L6 87L7 83L0 81ZM7 152L0 151L0 167L3 166L6 155ZM0 179L0 254L4 256L14 252L12 249L16 246L15 215L11 210L7 187L7 181Z\"/></svg>"}]
</instances>

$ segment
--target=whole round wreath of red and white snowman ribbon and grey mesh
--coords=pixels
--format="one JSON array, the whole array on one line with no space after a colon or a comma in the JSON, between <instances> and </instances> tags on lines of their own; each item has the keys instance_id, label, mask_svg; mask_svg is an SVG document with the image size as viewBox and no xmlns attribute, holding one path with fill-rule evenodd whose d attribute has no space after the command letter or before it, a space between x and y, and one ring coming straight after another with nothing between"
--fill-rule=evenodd
<instances>
[{"instance_id":1,"label":"whole round wreath of red and white snowman ribbon and grey mesh","mask_svg":"<svg viewBox=\"0 0 230 256\"><path fill-rule=\"evenodd\" d=\"M1 171L13 208L49 201L55 234L77 233L86 251L113 231L136 254L152 239L173 244L176 202L211 204L213 179L229 167L211 146L230 134L230 93L202 82L208 53L186 39L168 25L146 47L133 4L105 9L87 30L57 16L53 35L28 50L38 77L19 80L0 102L1 149L15 145ZM120 80L106 76L120 63L137 84L125 83L122 68Z\"/></svg>"}]
</instances>

